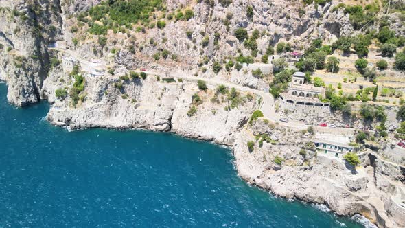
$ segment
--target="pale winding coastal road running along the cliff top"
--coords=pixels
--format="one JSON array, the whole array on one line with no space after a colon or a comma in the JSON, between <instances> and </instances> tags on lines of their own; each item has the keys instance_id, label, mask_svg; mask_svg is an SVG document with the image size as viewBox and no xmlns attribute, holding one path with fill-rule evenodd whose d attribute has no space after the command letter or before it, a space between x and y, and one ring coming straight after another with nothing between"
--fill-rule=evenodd
<instances>
[{"instance_id":1,"label":"pale winding coastal road running along the cliff top","mask_svg":"<svg viewBox=\"0 0 405 228\"><path fill-rule=\"evenodd\" d=\"M82 69L90 69L92 65L94 64L93 62L89 60L84 60L79 56L76 52L66 49L64 47L51 47L50 49L55 49L60 52L64 52L65 54L69 54L73 58L76 58L82 65ZM106 68L106 65L101 62L100 64L102 67ZM158 72L158 71L141 71L141 70L136 70L135 72L137 73L147 73L150 75L155 75L155 76L160 76L161 78L176 78L176 79L182 79L182 80L189 80L189 81L198 81L198 80L204 80L208 84L218 86L220 84L223 84L226 87L229 88L235 88L239 91L245 91L249 93L254 93L255 95L259 95L262 98L262 104L259 104L259 109L262 111L264 117L266 119L269 119L270 122L273 122L275 124L278 124L280 126L285 126L288 128L294 128L297 130L306 130L308 128L308 125L303 124L303 122L297 122L297 121L292 121L292 122L281 122L280 115L275 112L275 99L273 98L273 95L271 95L268 92L261 91L258 89L252 89L249 87L244 87L240 84L233 84L231 82L227 82L224 80L218 80L215 78L198 78L195 76L188 76L186 72L172 72L172 73L163 73L163 72ZM354 128L327 128L327 127L320 127L320 126L312 126L316 132L319 133L328 133L332 135L352 135L355 131Z\"/></svg>"}]
</instances>

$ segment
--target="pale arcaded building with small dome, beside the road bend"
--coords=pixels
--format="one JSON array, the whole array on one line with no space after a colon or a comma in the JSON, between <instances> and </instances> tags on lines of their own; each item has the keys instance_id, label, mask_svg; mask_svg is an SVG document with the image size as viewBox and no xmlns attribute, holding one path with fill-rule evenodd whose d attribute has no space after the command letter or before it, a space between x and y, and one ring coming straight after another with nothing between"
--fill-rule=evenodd
<instances>
[{"instance_id":1,"label":"pale arcaded building with small dome, beside the road bend","mask_svg":"<svg viewBox=\"0 0 405 228\"><path fill-rule=\"evenodd\" d=\"M324 88L305 84L305 73L295 72L288 91L280 94L281 106L283 109L298 110L303 113L329 112L329 102L319 100L319 97L323 95L325 95Z\"/></svg>"}]
</instances>

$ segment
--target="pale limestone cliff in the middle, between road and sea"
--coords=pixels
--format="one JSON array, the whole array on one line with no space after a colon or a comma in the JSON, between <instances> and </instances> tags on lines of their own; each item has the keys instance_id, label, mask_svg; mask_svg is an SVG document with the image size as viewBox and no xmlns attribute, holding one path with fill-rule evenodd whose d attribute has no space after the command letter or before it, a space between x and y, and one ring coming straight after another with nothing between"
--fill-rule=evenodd
<instances>
[{"instance_id":1,"label":"pale limestone cliff in the middle, between road and sea","mask_svg":"<svg viewBox=\"0 0 405 228\"><path fill-rule=\"evenodd\" d=\"M60 82L60 78L64 80ZM233 134L244 126L257 106L253 95L248 100L241 94L241 99L246 99L243 104L226 110L227 101L211 102L213 91L199 91L196 82L167 83L154 76L145 80L106 76L86 78L83 92L86 101L75 108L69 98L61 101L53 93L58 88L68 87L69 83L72 83L69 76L53 72L44 89L51 91L48 99L54 102L48 113L49 121L72 130L93 127L171 130L185 137L231 145ZM118 89L117 83L122 83L122 87ZM192 102L194 94L203 101ZM196 113L189 116L187 113L192 106L196 107Z\"/></svg>"}]
</instances>

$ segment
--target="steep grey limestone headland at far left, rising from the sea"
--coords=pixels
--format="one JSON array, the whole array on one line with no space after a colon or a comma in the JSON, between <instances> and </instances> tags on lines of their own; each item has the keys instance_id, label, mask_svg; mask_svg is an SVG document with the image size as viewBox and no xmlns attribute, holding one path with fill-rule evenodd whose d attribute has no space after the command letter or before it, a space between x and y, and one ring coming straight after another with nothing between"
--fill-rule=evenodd
<instances>
[{"instance_id":1,"label":"steep grey limestone headland at far left, rising from the sea","mask_svg":"<svg viewBox=\"0 0 405 228\"><path fill-rule=\"evenodd\" d=\"M25 106L40 100L49 71L47 46L60 36L58 0L0 2L0 79L8 100Z\"/></svg>"}]
</instances>

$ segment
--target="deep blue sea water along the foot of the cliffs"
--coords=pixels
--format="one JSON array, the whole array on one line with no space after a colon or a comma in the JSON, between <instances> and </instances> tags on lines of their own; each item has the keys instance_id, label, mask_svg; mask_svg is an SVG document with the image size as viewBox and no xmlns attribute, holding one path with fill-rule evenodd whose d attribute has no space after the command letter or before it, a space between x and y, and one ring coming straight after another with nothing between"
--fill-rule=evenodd
<instances>
[{"instance_id":1,"label":"deep blue sea water along the foot of the cliffs","mask_svg":"<svg viewBox=\"0 0 405 228\"><path fill-rule=\"evenodd\" d=\"M362 227L247 185L226 148L51 126L0 84L0 227Z\"/></svg>"}]
</instances>

